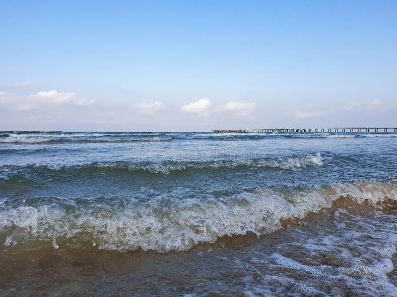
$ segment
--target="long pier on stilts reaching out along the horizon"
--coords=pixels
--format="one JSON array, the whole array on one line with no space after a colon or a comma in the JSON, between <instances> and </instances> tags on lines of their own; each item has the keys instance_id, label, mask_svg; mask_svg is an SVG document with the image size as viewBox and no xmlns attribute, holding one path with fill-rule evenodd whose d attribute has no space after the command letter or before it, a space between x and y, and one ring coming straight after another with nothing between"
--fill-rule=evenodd
<instances>
[{"instance_id":1,"label":"long pier on stilts reaching out along the horizon","mask_svg":"<svg viewBox=\"0 0 397 297\"><path fill-rule=\"evenodd\" d=\"M213 129L216 133L397 133L397 127Z\"/></svg>"}]
</instances>

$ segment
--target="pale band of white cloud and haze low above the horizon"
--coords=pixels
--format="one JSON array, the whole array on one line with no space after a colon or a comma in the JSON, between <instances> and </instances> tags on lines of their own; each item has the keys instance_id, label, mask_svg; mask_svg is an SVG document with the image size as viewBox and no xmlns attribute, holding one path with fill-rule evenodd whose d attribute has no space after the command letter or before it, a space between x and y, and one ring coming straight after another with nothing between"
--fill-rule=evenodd
<instances>
[{"instance_id":1,"label":"pale band of white cloud and haze low above the horizon","mask_svg":"<svg viewBox=\"0 0 397 297\"><path fill-rule=\"evenodd\" d=\"M219 98L212 101L209 98L196 97L195 101L183 102L185 97L182 95L178 101L179 105L176 106L175 99L172 97L169 101L164 102L155 101L156 98L148 98L147 101L142 100L143 102L125 100L114 103L113 101L106 102L104 96L97 103L95 99L80 98L82 96L76 92L59 92L49 89L30 92L31 95L29 95L27 90L23 91L25 92L20 91L19 93L14 90L0 89L0 112L3 126L8 125L10 129L24 127L38 129L41 127L44 130L51 130L61 129L62 125L79 127L76 125L80 123L86 125L84 127L87 127L85 129L88 130L100 129L97 127L115 130L134 127L133 129L142 131L155 131L159 129L158 127L166 127L164 129L169 131L185 129L194 131L200 130L196 127L209 130L214 127L265 126L277 125L277 123L299 126L299 123L305 121L313 125L328 125L329 123L332 125L332 121L337 121L341 114L351 116L353 123L362 122L361 118L368 118L371 112L369 110L375 110L373 112L374 120L371 124L378 124L377 122L382 124L383 114L380 111L389 110L389 108L395 110L396 108L393 102L383 98L381 98L382 101L379 99L345 101L344 104L331 107L319 105L313 106L312 109L309 105L286 105L283 108L275 105L267 106L255 103L254 99L252 99L254 102L237 101L238 99L236 101L221 101L222 99ZM105 103L102 100L105 100ZM173 110L173 106L176 107L176 110ZM161 116L153 116L153 114ZM20 126L18 126L18 120L22 123ZM30 126L33 123L36 126ZM57 126L59 128L50 129L52 125L58 125L57 123L60 123L60 126Z\"/></svg>"}]
</instances>

